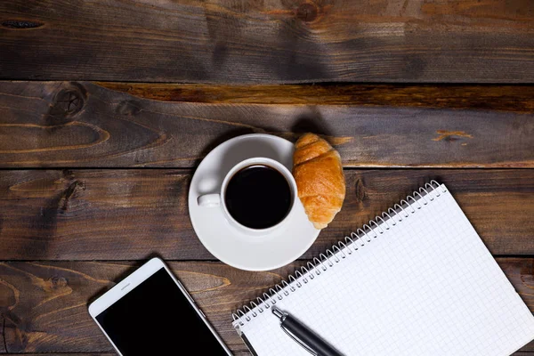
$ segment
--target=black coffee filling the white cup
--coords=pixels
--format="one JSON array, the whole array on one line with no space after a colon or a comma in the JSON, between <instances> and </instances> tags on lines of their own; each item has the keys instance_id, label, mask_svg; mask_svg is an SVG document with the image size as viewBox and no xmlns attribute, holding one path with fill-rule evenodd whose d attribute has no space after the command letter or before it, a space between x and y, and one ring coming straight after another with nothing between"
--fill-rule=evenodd
<instances>
[{"instance_id":1,"label":"black coffee filling the white cup","mask_svg":"<svg viewBox=\"0 0 534 356\"><path fill-rule=\"evenodd\" d=\"M268 229L289 213L293 197L283 174L271 166L240 169L226 186L224 203L238 223L251 229Z\"/></svg>"}]
</instances>

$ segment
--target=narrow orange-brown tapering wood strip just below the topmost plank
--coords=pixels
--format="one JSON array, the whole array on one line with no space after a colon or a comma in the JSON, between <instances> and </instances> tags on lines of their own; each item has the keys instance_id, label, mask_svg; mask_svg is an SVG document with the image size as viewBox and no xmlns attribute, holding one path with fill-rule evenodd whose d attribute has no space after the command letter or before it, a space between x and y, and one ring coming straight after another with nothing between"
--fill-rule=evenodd
<instances>
[{"instance_id":1,"label":"narrow orange-brown tapering wood strip just below the topmost plank","mask_svg":"<svg viewBox=\"0 0 534 356\"><path fill-rule=\"evenodd\" d=\"M96 82L157 101L534 112L534 85L204 85Z\"/></svg>"}]
</instances>

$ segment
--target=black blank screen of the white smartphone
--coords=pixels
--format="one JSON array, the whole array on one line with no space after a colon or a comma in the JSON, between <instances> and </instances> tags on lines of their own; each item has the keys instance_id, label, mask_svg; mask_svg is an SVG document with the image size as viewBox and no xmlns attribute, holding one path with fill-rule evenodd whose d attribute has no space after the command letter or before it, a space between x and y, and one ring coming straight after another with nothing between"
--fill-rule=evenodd
<instances>
[{"instance_id":1,"label":"black blank screen of the white smartphone","mask_svg":"<svg viewBox=\"0 0 534 356\"><path fill-rule=\"evenodd\" d=\"M132 289L96 320L123 356L228 356L189 300L165 270Z\"/></svg>"}]
</instances>

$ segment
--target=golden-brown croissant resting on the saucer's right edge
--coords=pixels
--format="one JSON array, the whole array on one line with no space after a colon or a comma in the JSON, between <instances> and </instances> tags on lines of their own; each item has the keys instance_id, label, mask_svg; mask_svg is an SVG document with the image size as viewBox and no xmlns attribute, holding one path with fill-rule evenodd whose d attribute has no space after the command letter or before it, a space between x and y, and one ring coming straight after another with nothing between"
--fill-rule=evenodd
<instances>
[{"instance_id":1,"label":"golden-brown croissant resting on the saucer's right edge","mask_svg":"<svg viewBox=\"0 0 534 356\"><path fill-rule=\"evenodd\" d=\"M304 134L295 143L293 176L308 219L324 229L341 210L345 196L339 153L316 134Z\"/></svg>"}]
</instances>

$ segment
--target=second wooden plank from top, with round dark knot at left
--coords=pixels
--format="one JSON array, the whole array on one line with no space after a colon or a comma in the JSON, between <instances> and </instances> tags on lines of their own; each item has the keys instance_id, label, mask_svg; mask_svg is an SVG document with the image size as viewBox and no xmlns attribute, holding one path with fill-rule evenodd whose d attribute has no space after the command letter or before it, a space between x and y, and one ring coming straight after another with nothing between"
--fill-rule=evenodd
<instances>
[{"instance_id":1,"label":"second wooden plank from top, with round dark knot at left","mask_svg":"<svg viewBox=\"0 0 534 356\"><path fill-rule=\"evenodd\" d=\"M347 167L534 167L534 96L508 86L477 99L482 91L445 90L452 97L441 99L439 87L389 87L356 105L229 105L155 101L93 83L0 82L0 167L192 167L239 134L294 141L308 131L332 142ZM505 103L516 94L516 108Z\"/></svg>"}]
</instances>

